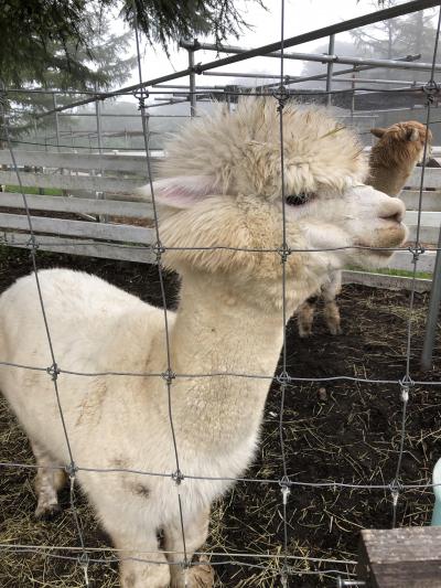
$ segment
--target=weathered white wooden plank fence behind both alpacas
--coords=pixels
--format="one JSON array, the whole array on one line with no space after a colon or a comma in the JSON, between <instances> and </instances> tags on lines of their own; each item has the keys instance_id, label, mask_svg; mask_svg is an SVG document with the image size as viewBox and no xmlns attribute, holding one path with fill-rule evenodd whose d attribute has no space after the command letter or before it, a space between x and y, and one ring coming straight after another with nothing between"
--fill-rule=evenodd
<instances>
[{"instance_id":1,"label":"weathered white wooden plank fence behind both alpacas","mask_svg":"<svg viewBox=\"0 0 441 588\"><path fill-rule=\"evenodd\" d=\"M434 150L438 152L439 148ZM140 202L140 197L136 195L136 189L147 181L143 171L144 156L17 151L17 162L22 168L23 185L37 188L42 192L45 189L55 189L65 194L26 195L31 211L47 213L44 217L32 217L35 233L39 236L44 235L41 239L41 249L111 259L152 261L153 256L150 252L128 248L128 245L147 246L154 243L154 235L150 228L131 226L132 220L143 218L148 223L148 220L153 217L151 202ZM0 164L11 165L9 151L0 150ZM406 223L409 226L410 239L416 237L419 203L419 191L416 188L420 181L421 171L416 169L408 180L409 188L400 195L408 209ZM7 186L17 184L15 173L1 170L0 183ZM426 169L424 188L420 240L430 245L437 243L441 225L441 168ZM17 247L25 246L25 239L29 237L28 220L23 214L18 214L20 211L24 212L21 194L6 191L0 195L2 240ZM72 214L74 217L60 218L58 213ZM88 221L82 220L84 215L89 215ZM94 216L97 222L93 222ZM106 222L98 222L99 220ZM93 239L95 243L85 244L82 239ZM424 253L419 260L419 270L432 272L434 258L434 253ZM412 271L412 259L410 252L397 252L387 267ZM381 285L387 282L392 285L392 277L389 279L385 276L384 279L377 280L377 284Z\"/></svg>"}]
</instances>

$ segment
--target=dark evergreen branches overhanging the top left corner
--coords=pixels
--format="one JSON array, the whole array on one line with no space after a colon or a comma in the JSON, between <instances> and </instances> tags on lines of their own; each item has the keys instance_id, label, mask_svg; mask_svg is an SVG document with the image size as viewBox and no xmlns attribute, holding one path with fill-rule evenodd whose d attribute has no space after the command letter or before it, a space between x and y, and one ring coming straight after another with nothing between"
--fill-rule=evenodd
<instances>
[{"instance_id":1,"label":"dark evergreen branches overhanging the top left corner","mask_svg":"<svg viewBox=\"0 0 441 588\"><path fill-rule=\"evenodd\" d=\"M262 0L252 0L262 6ZM135 2L135 3L133 3ZM214 34L222 41L247 26L234 0L0 0L0 76L8 86L30 81L45 84L47 72L63 72L71 79L103 86L84 52L93 60L94 39L104 15L121 12L149 42L168 44L181 36ZM80 47L78 54L78 47ZM103 74L103 72L101 72ZM60 79L60 78L58 78Z\"/></svg>"}]
</instances>

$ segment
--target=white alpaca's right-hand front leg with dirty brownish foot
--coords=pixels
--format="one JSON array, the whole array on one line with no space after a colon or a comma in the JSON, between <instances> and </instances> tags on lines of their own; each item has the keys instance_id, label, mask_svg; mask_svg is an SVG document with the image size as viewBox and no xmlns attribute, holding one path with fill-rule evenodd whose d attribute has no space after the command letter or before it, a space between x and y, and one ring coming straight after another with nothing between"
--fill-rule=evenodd
<instances>
[{"instance_id":1,"label":"white alpaca's right-hand front leg with dirty brownish foot","mask_svg":"<svg viewBox=\"0 0 441 588\"><path fill-rule=\"evenodd\" d=\"M209 509L193 514L184 520L185 550L191 563L194 552L206 541L208 535ZM198 558L186 569L183 568L184 545L181 518L164 526L164 545L170 562L171 588L209 588L214 584L214 571L206 558Z\"/></svg>"}]
</instances>

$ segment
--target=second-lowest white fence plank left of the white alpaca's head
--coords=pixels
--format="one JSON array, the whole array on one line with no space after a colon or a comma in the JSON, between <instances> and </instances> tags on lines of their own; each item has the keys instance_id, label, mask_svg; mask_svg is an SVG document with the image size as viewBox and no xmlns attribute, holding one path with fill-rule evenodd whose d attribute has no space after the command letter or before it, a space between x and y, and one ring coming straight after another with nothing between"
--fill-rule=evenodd
<instances>
[{"instance_id":1,"label":"second-lowest white fence plank left of the white alpaca's head","mask_svg":"<svg viewBox=\"0 0 441 588\"><path fill-rule=\"evenodd\" d=\"M52 233L69 237L108 239L122 243L143 243L144 245L154 243L153 229L140 226L66 221L65 218L46 218L44 216L31 216L31 222L35 233ZM24 214L0 213L0 229L28 231L28 217Z\"/></svg>"}]
</instances>

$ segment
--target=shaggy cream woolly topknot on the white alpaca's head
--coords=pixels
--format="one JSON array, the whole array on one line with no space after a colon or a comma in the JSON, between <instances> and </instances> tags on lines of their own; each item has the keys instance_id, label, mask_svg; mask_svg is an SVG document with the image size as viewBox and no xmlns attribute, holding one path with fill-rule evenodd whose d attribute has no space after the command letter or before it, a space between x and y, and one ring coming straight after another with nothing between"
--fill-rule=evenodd
<instances>
[{"instance_id":1,"label":"shaggy cream woolly topknot on the white alpaca's head","mask_svg":"<svg viewBox=\"0 0 441 588\"><path fill-rule=\"evenodd\" d=\"M363 182L367 161L357 136L318 106L289 101L283 108L287 193L342 193ZM280 119L273 97L247 97L228 113L217 105L165 147L162 178L212 175L219 194L281 194Z\"/></svg>"}]
</instances>

